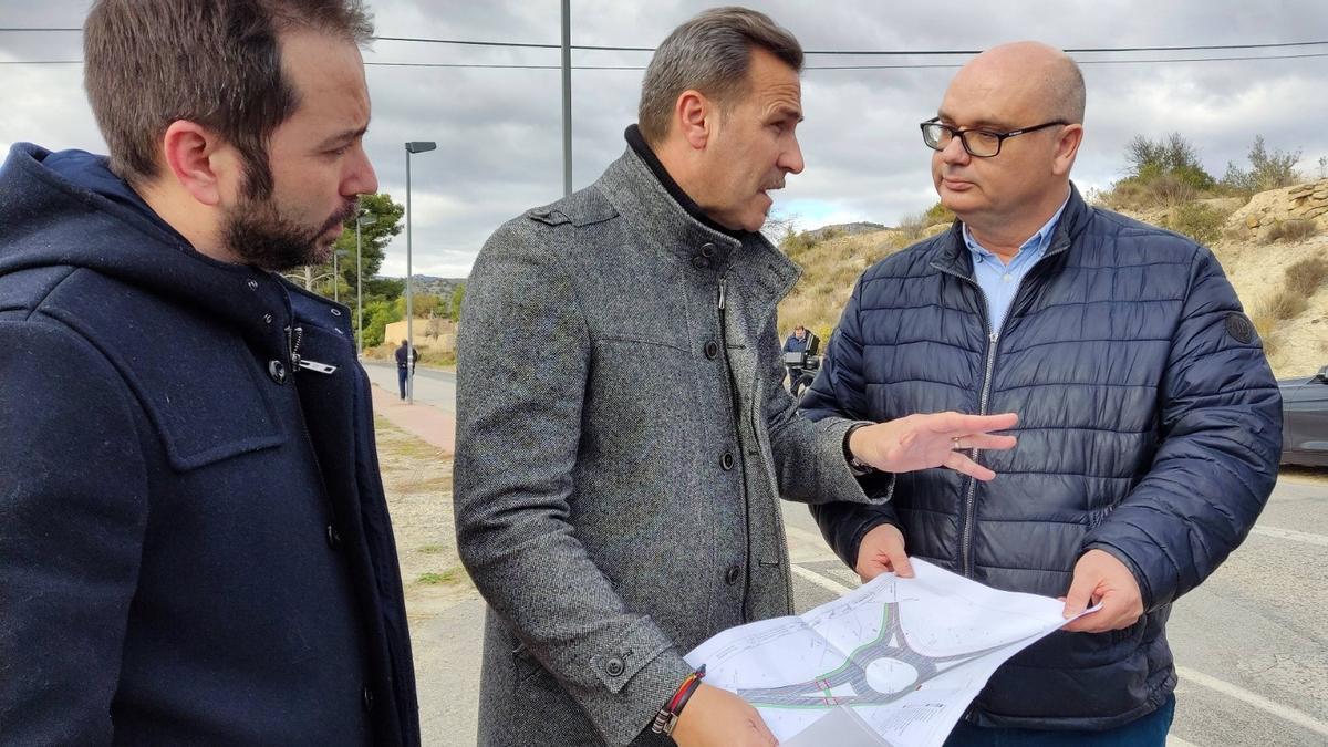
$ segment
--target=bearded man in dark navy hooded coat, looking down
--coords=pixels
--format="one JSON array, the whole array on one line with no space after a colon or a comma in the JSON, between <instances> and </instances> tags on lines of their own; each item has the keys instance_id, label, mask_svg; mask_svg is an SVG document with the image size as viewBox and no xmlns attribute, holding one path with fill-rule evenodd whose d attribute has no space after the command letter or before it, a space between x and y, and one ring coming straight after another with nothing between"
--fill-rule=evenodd
<instances>
[{"instance_id":1,"label":"bearded man in dark navy hooded coat, looking down","mask_svg":"<svg viewBox=\"0 0 1328 747\"><path fill-rule=\"evenodd\" d=\"M0 742L412 744L371 401L327 258L359 3L104 0L110 158L0 169Z\"/></svg>"}]
</instances>

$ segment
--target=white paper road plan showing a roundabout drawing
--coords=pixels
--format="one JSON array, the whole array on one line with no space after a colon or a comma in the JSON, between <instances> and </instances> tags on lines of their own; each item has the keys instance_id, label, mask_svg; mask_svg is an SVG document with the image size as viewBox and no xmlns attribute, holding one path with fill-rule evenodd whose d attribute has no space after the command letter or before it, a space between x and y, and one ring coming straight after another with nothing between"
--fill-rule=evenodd
<instances>
[{"instance_id":1,"label":"white paper road plan showing a roundabout drawing","mask_svg":"<svg viewBox=\"0 0 1328 747\"><path fill-rule=\"evenodd\" d=\"M687 661L789 747L942 744L1001 662L1068 621L1056 599L912 566L915 578L886 573L799 617L725 630Z\"/></svg>"}]
</instances>

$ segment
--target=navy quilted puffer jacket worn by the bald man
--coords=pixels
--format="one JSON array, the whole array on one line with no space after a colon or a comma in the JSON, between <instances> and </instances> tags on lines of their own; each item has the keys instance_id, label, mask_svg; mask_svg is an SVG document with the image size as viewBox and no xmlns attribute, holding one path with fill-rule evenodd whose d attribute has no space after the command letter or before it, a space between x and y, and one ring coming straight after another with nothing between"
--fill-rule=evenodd
<instances>
[{"instance_id":1,"label":"navy quilted puffer jacket worn by the bald man","mask_svg":"<svg viewBox=\"0 0 1328 747\"><path fill-rule=\"evenodd\" d=\"M1147 614L1104 634L1056 633L973 702L980 726L1101 730L1175 687L1165 623L1244 540L1272 490L1282 401L1212 254L1070 195L1046 255L999 330L954 230L859 279L807 399L813 419L1017 412L1019 447L950 469L869 479L882 505L813 506L850 566L891 522L914 557L983 584L1065 594L1088 549L1125 562Z\"/></svg>"}]
</instances>

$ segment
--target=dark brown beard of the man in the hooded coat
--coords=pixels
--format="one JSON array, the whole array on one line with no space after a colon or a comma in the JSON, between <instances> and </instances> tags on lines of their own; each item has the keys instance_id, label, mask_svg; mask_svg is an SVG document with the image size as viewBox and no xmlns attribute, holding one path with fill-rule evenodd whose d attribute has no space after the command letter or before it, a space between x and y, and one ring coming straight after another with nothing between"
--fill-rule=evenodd
<instances>
[{"instance_id":1,"label":"dark brown beard of the man in the hooded coat","mask_svg":"<svg viewBox=\"0 0 1328 747\"><path fill-rule=\"evenodd\" d=\"M305 265L321 265L332 255L332 245L319 239L355 215L356 202L345 206L320 226L301 225L276 205L276 199L244 197L227 211L222 226L226 247L246 265L268 272L283 272Z\"/></svg>"}]
</instances>

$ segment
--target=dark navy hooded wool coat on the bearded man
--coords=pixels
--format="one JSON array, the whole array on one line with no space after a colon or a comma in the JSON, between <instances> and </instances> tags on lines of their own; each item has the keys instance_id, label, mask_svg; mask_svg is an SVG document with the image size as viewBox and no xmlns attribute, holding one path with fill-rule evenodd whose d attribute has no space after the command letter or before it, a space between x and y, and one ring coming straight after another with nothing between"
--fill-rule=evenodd
<instances>
[{"instance_id":1,"label":"dark navy hooded wool coat on the bearded man","mask_svg":"<svg viewBox=\"0 0 1328 747\"><path fill-rule=\"evenodd\" d=\"M104 160L15 146L0 742L418 742L349 318L198 254Z\"/></svg>"}]
</instances>

